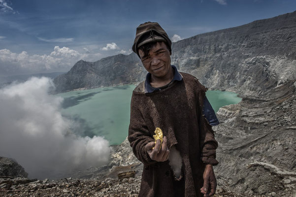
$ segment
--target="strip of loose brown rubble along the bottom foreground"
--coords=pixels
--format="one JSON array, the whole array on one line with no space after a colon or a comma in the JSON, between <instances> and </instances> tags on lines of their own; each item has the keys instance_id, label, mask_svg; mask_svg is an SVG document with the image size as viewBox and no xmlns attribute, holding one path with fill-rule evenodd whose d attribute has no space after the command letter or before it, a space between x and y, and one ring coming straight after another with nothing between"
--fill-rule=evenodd
<instances>
[{"instance_id":1,"label":"strip of loose brown rubble along the bottom foreground","mask_svg":"<svg viewBox=\"0 0 296 197\"><path fill-rule=\"evenodd\" d=\"M137 197L140 176L135 178L72 179L48 181L0 178L0 197ZM218 188L215 197L247 197ZM263 196L254 196L263 197Z\"/></svg>"}]
</instances>

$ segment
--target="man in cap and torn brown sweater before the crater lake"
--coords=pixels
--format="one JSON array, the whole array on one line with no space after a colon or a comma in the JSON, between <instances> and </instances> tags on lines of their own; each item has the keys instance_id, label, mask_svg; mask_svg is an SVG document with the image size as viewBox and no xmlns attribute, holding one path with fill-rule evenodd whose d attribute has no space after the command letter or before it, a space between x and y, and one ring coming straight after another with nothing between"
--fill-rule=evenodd
<instances>
[{"instance_id":1,"label":"man in cap and torn brown sweater before the crater lake","mask_svg":"<svg viewBox=\"0 0 296 197\"><path fill-rule=\"evenodd\" d=\"M170 65L171 41L158 23L137 27L132 50L149 72L132 93L129 141L144 164L139 197L210 197L219 124L206 88ZM208 121L209 120L209 121ZM156 128L164 140L154 142Z\"/></svg>"}]
</instances>

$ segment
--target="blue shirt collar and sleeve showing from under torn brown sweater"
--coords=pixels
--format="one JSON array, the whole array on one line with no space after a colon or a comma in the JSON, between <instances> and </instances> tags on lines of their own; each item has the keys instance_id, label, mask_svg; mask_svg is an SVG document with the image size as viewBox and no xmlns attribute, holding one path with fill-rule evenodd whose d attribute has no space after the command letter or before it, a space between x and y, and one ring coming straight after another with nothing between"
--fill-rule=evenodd
<instances>
[{"instance_id":1,"label":"blue shirt collar and sleeve showing from under torn brown sweater","mask_svg":"<svg viewBox=\"0 0 296 197\"><path fill-rule=\"evenodd\" d=\"M174 78L170 83L172 83L173 81L181 81L183 79L182 75L180 74L180 72L178 72L176 66L174 65L171 65L171 66L174 70ZM148 72L145 80L145 93L153 93L155 91L160 91L168 86L167 84L163 87L154 88L150 84L150 79L151 79L151 73ZM203 113L211 126L217 126L220 124L212 105L210 104L209 100L206 97L204 98L204 101L203 101Z\"/></svg>"}]
</instances>

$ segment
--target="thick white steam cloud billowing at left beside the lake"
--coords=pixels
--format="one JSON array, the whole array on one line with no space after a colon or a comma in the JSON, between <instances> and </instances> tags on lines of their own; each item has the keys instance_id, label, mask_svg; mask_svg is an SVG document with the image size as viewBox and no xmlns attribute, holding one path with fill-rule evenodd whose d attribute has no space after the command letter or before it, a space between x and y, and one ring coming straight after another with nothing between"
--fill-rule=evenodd
<instances>
[{"instance_id":1,"label":"thick white steam cloud billowing at left beside the lake","mask_svg":"<svg viewBox=\"0 0 296 197\"><path fill-rule=\"evenodd\" d=\"M49 95L51 88L49 78L33 77L0 89L0 156L40 179L106 164L108 141L73 133L77 123L62 116L63 98Z\"/></svg>"}]
</instances>

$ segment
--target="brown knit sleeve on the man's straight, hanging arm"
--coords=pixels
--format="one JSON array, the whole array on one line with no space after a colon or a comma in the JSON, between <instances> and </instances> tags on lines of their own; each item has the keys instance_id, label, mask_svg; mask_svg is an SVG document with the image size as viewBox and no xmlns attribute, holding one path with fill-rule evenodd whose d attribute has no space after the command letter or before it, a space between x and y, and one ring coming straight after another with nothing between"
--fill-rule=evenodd
<instances>
[{"instance_id":1,"label":"brown knit sleeve on the man's straight, hanging arm","mask_svg":"<svg viewBox=\"0 0 296 197\"><path fill-rule=\"evenodd\" d=\"M200 144L200 159L205 164L217 165L219 162L216 160L216 149L218 142L215 139L212 126L208 123L207 119L203 115L203 101L205 98L206 88L202 86L198 80L197 85L199 87L198 92L198 126L199 126L199 144Z\"/></svg>"}]
</instances>

